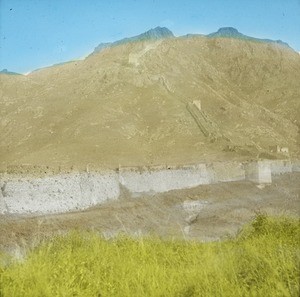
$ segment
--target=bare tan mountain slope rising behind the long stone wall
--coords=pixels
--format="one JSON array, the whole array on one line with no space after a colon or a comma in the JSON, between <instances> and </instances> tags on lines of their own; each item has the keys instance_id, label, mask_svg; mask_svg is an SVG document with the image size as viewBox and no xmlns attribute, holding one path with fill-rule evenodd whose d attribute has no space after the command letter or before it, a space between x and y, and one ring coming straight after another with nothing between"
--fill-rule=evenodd
<instances>
[{"instance_id":1,"label":"bare tan mountain slope rising behind the long stone wall","mask_svg":"<svg viewBox=\"0 0 300 297\"><path fill-rule=\"evenodd\" d=\"M299 157L299 81L290 48L205 36L124 43L27 76L0 74L0 167L283 157L272 145Z\"/></svg>"}]
</instances>

